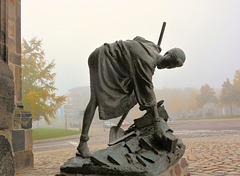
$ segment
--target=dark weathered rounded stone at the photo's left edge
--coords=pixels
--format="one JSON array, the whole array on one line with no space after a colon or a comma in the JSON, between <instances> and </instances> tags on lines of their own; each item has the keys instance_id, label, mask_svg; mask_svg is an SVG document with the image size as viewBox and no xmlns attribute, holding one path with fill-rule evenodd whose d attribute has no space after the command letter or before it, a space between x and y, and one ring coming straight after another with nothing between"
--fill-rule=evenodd
<instances>
[{"instance_id":1,"label":"dark weathered rounded stone at the photo's left edge","mask_svg":"<svg viewBox=\"0 0 240 176\"><path fill-rule=\"evenodd\" d=\"M4 58L3 55L0 57ZM14 84L12 72L4 59L0 59L0 175L14 175L12 148Z\"/></svg>"}]
</instances>

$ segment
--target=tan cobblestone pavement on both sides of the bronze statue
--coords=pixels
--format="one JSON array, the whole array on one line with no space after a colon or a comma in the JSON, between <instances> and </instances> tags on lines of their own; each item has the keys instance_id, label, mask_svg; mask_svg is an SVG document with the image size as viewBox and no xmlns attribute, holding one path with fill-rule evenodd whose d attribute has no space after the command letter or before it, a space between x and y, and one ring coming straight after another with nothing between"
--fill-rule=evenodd
<instances>
[{"instance_id":1,"label":"tan cobblestone pavement on both sides of the bronze statue","mask_svg":"<svg viewBox=\"0 0 240 176\"><path fill-rule=\"evenodd\" d=\"M191 135L190 135L191 134ZM184 157L189 163L192 176L240 176L239 132L177 132L186 145ZM212 134L212 135L209 135ZM214 135L215 134L215 135ZM107 145L91 145L90 150L99 150ZM34 168L16 172L17 176L55 175L60 166L73 157L76 147L34 153Z\"/></svg>"}]
</instances>

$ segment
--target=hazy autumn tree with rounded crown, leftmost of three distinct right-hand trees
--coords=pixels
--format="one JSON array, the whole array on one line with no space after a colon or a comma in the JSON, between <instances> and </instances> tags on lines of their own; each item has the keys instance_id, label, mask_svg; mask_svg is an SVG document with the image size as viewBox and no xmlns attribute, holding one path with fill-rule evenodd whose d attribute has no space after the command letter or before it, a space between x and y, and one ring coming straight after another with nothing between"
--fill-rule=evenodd
<instances>
[{"instance_id":1,"label":"hazy autumn tree with rounded crown, leftmost of three distinct right-hand trees","mask_svg":"<svg viewBox=\"0 0 240 176\"><path fill-rule=\"evenodd\" d=\"M197 97L199 106L203 106L206 103L216 103L217 97L215 95L214 89L208 84L203 85L200 88L200 94Z\"/></svg>"}]
</instances>

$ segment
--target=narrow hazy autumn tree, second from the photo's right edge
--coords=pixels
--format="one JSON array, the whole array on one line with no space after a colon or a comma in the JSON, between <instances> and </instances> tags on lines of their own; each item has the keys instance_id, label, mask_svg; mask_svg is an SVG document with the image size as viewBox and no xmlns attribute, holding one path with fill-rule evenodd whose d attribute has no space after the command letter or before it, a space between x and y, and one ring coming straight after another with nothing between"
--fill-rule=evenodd
<instances>
[{"instance_id":1,"label":"narrow hazy autumn tree, second from the photo's right edge","mask_svg":"<svg viewBox=\"0 0 240 176\"><path fill-rule=\"evenodd\" d=\"M229 79L227 79L222 84L222 91L220 95L220 101L222 104L229 106L231 115L232 115L232 104L234 100L234 90L233 85L230 83Z\"/></svg>"}]
</instances>

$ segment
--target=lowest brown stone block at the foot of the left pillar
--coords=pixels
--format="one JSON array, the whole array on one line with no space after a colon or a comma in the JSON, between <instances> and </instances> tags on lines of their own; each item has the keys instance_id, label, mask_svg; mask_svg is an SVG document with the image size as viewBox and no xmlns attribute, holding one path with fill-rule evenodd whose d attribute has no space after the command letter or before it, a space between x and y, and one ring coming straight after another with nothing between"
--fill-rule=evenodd
<instances>
[{"instance_id":1,"label":"lowest brown stone block at the foot of the left pillar","mask_svg":"<svg viewBox=\"0 0 240 176\"><path fill-rule=\"evenodd\" d=\"M21 170L33 167L33 153L32 151L15 152L15 169Z\"/></svg>"}]
</instances>

